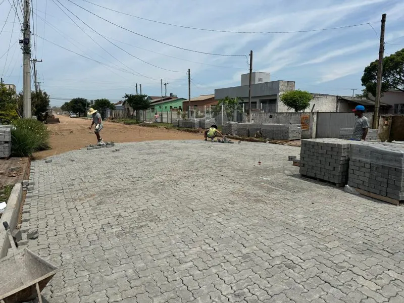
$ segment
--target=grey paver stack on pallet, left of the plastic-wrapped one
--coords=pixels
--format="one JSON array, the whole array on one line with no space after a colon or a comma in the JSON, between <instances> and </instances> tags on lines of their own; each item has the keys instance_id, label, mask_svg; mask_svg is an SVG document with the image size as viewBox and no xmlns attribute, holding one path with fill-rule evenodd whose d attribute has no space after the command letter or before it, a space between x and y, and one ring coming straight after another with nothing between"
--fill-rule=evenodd
<instances>
[{"instance_id":1,"label":"grey paver stack on pallet, left of the plastic-wrapped one","mask_svg":"<svg viewBox=\"0 0 404 303\"><path fill-rule=\"evenodd\" d=\"M336 138L301 140L300 174L344 186L351 145L355 143Z\"/></svg>"}]
</instances>

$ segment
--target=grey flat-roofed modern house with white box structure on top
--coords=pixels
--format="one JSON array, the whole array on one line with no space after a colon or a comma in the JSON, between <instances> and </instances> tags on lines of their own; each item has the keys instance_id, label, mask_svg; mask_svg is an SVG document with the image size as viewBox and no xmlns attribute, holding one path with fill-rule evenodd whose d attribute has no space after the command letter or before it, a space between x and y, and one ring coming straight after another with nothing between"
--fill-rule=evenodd
<instances>
[{"instance_id":1,"label":"grey flat-roofed modern house with white box structure on top","mask_svg":"<svg viewBox=\"0 0 404 303\"><path fill-rule=\"evenodd\" d=\"M241 75L241 85L215 89L215 99L239 97L242 107L248 108L249 74ZM280 95L294 90L294 81L270 81L270 73L254 72L251 74L251 110L262 109L265 112L287 111L280 102Z\"/></svg>"}]
</instances>

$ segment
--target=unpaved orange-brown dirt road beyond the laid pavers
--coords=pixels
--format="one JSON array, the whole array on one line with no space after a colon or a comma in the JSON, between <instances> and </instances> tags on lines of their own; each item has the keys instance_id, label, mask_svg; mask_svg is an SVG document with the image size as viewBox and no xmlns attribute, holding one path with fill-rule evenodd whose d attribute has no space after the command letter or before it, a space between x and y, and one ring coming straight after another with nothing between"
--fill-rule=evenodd
<instances>
[{"instance_id":1,"label":"unpaved orange-brown dirt road beyond the laid pavers","mask_svg":"<svg viewBox=\"0 0 404 303\"><path fill-rule=\"evenodd\" d=\"M83 148L90 143L96 143L94 126L89 130L91 120L57 116L59 124L48 124L51 131L52 149L39 151L34 154L35 159L65 153L69 150ZM104 122L101 131L104 141L134 142L150 140L192 140L203 139L202 134L193 134L165 128L141 127L120 123Z\"/></svg>"}]
</instances>

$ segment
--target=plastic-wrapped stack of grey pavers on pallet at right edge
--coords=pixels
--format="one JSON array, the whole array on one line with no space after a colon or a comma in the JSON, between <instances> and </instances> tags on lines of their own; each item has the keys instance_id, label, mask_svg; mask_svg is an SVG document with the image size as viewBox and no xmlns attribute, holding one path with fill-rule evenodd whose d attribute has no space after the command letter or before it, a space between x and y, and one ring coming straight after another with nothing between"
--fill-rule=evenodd
<instances>
[{"instance_id":1,"label":"plastic-wrapped stack of grey pavers on pallet at right edge","mask_svg":"<svg viewBox=\"0 0 404 303\"><path fill-rule=\"evenodd\" d=\"M370 142L351 145L348 185L404 200L404 147Z\"/></svg>"}]
</instances>

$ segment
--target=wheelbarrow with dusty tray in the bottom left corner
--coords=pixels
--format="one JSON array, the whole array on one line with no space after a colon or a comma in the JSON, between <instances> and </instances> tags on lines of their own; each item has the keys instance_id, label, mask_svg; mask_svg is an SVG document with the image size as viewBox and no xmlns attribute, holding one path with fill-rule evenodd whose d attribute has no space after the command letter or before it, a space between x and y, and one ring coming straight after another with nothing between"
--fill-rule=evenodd
<instances>
[{"instance_id":1,"label":"wheelbarrow with dusty tray in the bottom left corner","mask_svg":"<svg viewBox=\"0 0 404 303\"><path fill-rule=\"evenodd\" d=\"M10 239L13 255L0 259L0 303L20 303L38 298L58 268L31 250L17 249L10 226L3 222Z\"/></svg>"}]
</instances>

